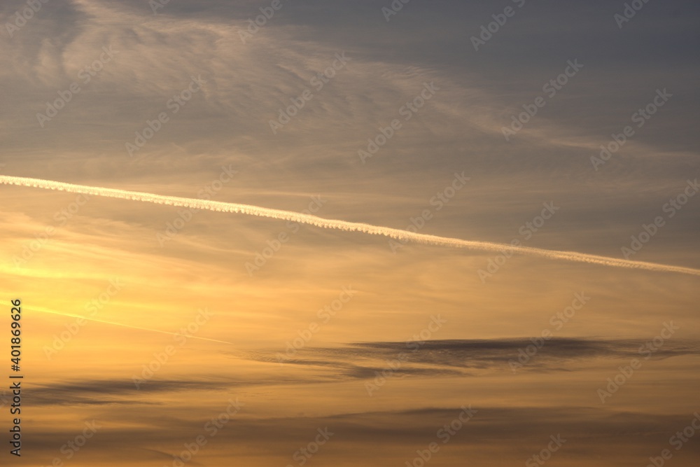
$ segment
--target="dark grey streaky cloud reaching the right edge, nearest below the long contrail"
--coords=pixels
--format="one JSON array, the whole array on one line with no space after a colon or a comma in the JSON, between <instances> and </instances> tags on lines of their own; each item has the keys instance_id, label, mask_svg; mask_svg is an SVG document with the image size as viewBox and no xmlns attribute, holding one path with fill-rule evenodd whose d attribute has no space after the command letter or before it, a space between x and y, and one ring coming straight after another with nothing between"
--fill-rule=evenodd
<instances>
[{"instance_id":1,"label":"dark grey streaky cloud reaching the right edge, nearest below the long contrail","mask_svg":"<svg viewBox=\"0 0 700 467\"><path fill-rule=\"evenodd\" d=\"M535 344L535 341L537 343ZM369 379L400 360L392 370L397 376L468 376L468 370L508 370L510 361L518 361L520 351L536 353L524 365L533 371L575 371L581 363L596 358L615 360L631 358L662 359L674 356L700 355L694 341L666 341L662 347L647 351L644 340L596 340L553 338L550 340L429 340L412 342L363 342L346 347L304 347L295 354L260 355L260 361L283 361L290 365L333 368L339 377ZM530 347L528 349L528 347ZM642 348L640 350L640 347ZM428 368L425 366L427 365Z\"/></svg>"}]
</instances>

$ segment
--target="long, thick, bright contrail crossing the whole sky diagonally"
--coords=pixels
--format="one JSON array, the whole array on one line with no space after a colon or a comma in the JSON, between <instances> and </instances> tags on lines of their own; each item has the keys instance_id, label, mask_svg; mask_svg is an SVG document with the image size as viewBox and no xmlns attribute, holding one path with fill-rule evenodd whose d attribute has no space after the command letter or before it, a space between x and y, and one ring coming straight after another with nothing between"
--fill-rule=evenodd
<instances>
[{"instance_id":1,"label":"long, thick, bright contrail crossing the whole sky diagonally","mask_svg":"<svg viewBox=\"0 0 700 467\"><path fill-rule=\"evenodd\" d=\"M523 253L530 256L539 256L540 258L549 258L554 260L577 261L579 263L590 263L612 267L626 267L629 269L640 269L649 271L663 272L680 272L682 274L692 274L700 276L700 270L691 267L680 267L671 265L662 265L657 263L645 263L643 261L630 261L618 258L610 258L608 256L589 255L587 253L577 253L575 251L556 251L545 250L540 248L531 248L529 246L512 246L510 244L500 244L493 242L477 242L473 240L462 240L449 237L438 237L437 235L426 235L406 230L381 227L378 225L370 225L358 222L335 221L333 219L324 219L310 214L299 214L293 211L282 211L281 209L269 209L266 207L251 206L250 204L237 204L230 202L219 202L211 200L195 200L193 198L182 198L176 196L154 195L152 193L141 193L138 191L116 190L114 188L100 188L97 186L73 185L72 183L62 183L58 181L27 179L19 176L0 175L0 183L6 185L29 186L36 188L45 188L48 190L61 190L71 193L83 193L85 195L106 196L120 198L123 200L136 200L144 202L152 202L157 204L169 204L170 206L190 207L194 209L209 209L210 211L222 211L248 214L251 216L260 216L284 221L294 221L316 227L339 229L346 232L363 232L370 235L384 235L393 239L404 240L407 242L418 242L426 245L451 246L453 248L466 248L479 251L494 251L503 252L509 250L515 253Z\"/></svg>"}]
</instances>

